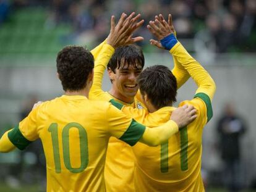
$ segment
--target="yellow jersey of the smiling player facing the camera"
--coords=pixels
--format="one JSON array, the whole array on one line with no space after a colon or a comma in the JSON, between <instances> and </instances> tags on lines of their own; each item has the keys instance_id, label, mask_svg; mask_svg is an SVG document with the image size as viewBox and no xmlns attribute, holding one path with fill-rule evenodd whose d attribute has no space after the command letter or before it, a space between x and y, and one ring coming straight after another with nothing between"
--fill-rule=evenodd
<instances>
[{"instance_id":1,"label":"yellow jersey of the smiling player facing the camera","mask_svg":"<svg viewBox=\"0 0 256 192\"><path fill-rule=\"evenodd\" d=\"M114 48L109 44L101 44L93 49L92 53L95 55L96 59L93 85L89 93L89 99L103 101L114 99L126 106L142 109L144 106L137 99L131 104L128 104L114 98L101 88L106 65L114 54ZM109 139L105 165L106 191L134 191L134 159L134 153L128 144L114 137Z\"/></svg>"}]
</instances>

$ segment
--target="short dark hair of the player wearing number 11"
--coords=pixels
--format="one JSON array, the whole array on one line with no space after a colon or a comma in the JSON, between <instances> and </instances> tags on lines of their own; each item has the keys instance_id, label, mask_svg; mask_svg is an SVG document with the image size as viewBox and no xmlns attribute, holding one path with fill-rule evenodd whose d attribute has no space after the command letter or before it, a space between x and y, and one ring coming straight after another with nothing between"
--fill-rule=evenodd
<instances>
[{"instance_id":1,"label":"short dark hair of the player wearing number 11","mask_svg":"<svg viewBox=\"0 0 256 192\"><path fill-rule=\"evenodd\" d=\"M137 78L140 93L145 93L156 109L176 102L177 80L171 70L163 65L153 65L143 70Z\"/></svg>"}]
</instances>

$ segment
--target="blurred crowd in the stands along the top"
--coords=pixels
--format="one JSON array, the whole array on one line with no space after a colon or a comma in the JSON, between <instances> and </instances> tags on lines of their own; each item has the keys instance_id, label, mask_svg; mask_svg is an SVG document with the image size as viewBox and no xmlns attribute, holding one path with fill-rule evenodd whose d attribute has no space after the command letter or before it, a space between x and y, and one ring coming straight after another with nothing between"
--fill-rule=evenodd
<instances>
[{"instance_id":1,"label":"blurred crowd in the stands along the top","mask_svg":"<svg viewBox=\"0 0 256 192\"><path fill-rule=\"evenodd\" d=\"M0 0L0 7L4 2L7 0ZM255 0L15 0L12 4L14 7L47 6L46 25L69 23L73 28L70 36L77 41L100 43L108 35L111 15L118 19L122 12L135 11L145 20L137 35L145 38L140 45L147 50L148 40L152 38L146 30L147 23L156 14L171 13L177 37L194 39L195 49L217 53L256 51Z\"/></svg>"}]
</instances>

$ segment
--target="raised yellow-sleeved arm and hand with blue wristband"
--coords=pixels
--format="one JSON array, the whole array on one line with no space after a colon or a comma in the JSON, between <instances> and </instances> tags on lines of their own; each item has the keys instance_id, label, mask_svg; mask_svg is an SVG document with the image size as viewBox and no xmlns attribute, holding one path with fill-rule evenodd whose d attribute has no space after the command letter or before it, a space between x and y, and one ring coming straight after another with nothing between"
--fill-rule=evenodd
<instances>
[{"instance_id":1,"label":"raised yellow-sleeved arm and hand with blue wristband","mask_svg":"<svg viewBox=\"0 0 256 192\"><path fill-rule=\"evenodd\" d=\"M171 20L171 15L169 15L168 20ZM178 68L186 70L195 83L197 83L198 89L196 94L205 93L212 99L216 90L215 82L209 73L203 69L202 65L190 56L182 44L177 41L173 28L170 25L172 26L172 23L167 23L162 15L157 17L155 21L150 21L149 25L147 25L148 30L160 40L150 40L151 44L158 46L158 48L169 50L176 59Z\"/></svg>"}]
</instances>

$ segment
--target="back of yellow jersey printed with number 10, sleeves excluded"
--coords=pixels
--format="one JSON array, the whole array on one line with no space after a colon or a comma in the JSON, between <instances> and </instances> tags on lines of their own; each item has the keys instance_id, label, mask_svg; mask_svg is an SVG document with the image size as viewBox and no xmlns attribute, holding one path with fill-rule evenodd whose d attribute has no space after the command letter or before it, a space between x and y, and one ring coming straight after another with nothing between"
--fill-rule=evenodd
<instances>
[{"instance_id":1,"label":"back of yellow jersey printed with number 10, sleeves excluded","mask_svg":"<svg viewBox=\"0 0 256 192\"><path fill-rule=\"evenodd\" d=\"M84 96L61 96L38 107L48 191L105 191L109 105Z\"/></svg>"}]
</instances>

